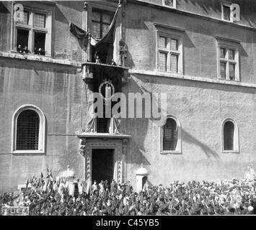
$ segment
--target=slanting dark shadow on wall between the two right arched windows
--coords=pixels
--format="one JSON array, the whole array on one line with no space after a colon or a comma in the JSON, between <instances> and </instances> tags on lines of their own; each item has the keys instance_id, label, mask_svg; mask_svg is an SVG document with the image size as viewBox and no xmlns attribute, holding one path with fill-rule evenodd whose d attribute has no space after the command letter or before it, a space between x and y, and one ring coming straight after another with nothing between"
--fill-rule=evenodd
<instances>
[{"instance_id":1,"label":"slanting dark shadow on wall between the two right arched windows","mask_svg":"<svg viewBox=\"0 0 256 230\"><path fill-rule=\"evenodd\" d=\"M220 160L220 157L217 152L215 152L213 149L208 147L207 144L200 142L200 140L193 137L191 134L189 134L185 129L181 129L181 135L182 135L182 141L187 142L190 144L195 144L196 146L200 147L200 149L203 150L203 152L206 154L208 158L214 157L216 160Z\"/></svg>"}]
</instances>

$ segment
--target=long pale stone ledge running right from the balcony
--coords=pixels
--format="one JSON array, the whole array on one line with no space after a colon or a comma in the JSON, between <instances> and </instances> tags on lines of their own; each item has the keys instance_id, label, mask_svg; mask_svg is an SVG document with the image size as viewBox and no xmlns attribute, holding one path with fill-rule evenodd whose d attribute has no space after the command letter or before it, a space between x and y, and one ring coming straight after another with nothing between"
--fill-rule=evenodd
<instances>
[{"instance_id":1,"label":"long pale stone ledge running right from the balcony","mask_svg":"<svg viewBox=\"0 0 256 230\"><path fill-rule=\"evenodd\" d=\"M159 76L159 77L165 77L165 78L177 78L177 79L184 79L184 80L195 80L200 82L218 83L218 84L229 85L229 86L243 86L243 87L256 88L256 84L252 84L252 83L242 83L239 81L221 80L221 79L200 78L200 77L195 77L190 75L182 75L180 73L166 73L166 72L159 72L159 71L136 70L136 69L128 70L128 73L152 75L152 76Z\"/></svg>"}]
</instances>

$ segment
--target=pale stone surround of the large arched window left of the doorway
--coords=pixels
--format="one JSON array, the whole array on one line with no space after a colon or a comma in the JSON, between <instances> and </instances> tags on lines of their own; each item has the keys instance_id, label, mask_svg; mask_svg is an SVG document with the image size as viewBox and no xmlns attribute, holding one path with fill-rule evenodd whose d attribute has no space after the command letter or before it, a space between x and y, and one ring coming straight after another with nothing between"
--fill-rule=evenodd
<instances>
[{"instance_id":1,"label":"pale stone surround of the large arched window left of the doorway","mask_svg":"<svg viewBox=\"0 0 256 230\"><path fill-rule=\"evenodd\" d=\"M35 111L39 116L39 135L38 135L38 149L37 150L17 150L17 119L22 111L27 109ZM20 106L12 116L12 154L45 154L45 115L43 111L34 105Z\"/></svg>"}]
</instances>

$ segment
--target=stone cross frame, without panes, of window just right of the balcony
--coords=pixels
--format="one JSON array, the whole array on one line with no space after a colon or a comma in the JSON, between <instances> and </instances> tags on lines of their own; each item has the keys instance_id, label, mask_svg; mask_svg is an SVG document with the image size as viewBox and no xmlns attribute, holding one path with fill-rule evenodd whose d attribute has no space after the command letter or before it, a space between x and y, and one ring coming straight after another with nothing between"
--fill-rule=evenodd
<instances>
[{"instance_id":1,"label":"stone cross frame, without panes, of window just right of the balcony","mask_svg":"<svg viewBox=\"0 0 256 230\"><path fill-rule=\"evenodd\" d=\"M166 37L167 38L167 48L163 49L159 47L159 37ZM171 40L177 40L177 50L171 50ZM162 71L159 68L159 53L164 52L167 54L167 70ZM177 72L172 72L171 70L171 55L178 55L177 60ZM175 35L175 34L169 34L166 32L158 31L156 33L156 70L159 72L167 72L167 73L178 73L183 74L183 42L182 42L182 36Z\"/></svg>"}]
</instances>

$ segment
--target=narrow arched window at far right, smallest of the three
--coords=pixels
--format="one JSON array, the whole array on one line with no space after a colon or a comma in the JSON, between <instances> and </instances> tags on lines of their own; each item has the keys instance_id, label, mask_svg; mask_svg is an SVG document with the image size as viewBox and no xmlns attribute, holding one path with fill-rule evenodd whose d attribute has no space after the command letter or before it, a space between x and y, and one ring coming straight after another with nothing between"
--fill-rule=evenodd
<instances>
[{"instance_id":1,"label":"narrow arched window at far right, smallest of the three","mask_svg":"<svg viewBox=\"0 0 256 230\"><path fill-rule=\"evenodd\" d=\"M239 152L238 127L231 119L226 119L222 124L222 151Z\"/></svg>"}]
</instances>

